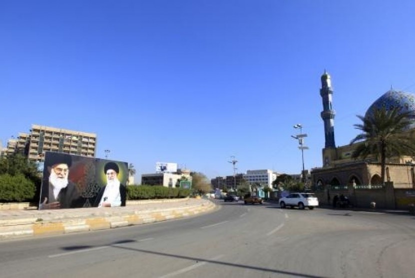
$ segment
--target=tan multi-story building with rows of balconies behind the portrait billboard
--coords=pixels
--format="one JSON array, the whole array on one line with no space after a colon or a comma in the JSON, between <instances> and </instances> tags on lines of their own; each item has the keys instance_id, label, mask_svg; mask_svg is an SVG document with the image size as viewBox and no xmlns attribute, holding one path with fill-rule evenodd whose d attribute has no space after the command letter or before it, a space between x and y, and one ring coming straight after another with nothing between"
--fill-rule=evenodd
<instances>
[{"instance_id":1,"label":"tan multi-story building with rows of balconies behind the portrait billboard","mask_svg":"<svg viewBox=\"0 0 415 278\"><path fill-rule=\"evenodd\" d=\"M7 143L7 154L22 153L32 161L43 161L45 151L95 157L96 134L32 124L30 133L19 133L14 145Z\"/></svg>"}]
</instances>

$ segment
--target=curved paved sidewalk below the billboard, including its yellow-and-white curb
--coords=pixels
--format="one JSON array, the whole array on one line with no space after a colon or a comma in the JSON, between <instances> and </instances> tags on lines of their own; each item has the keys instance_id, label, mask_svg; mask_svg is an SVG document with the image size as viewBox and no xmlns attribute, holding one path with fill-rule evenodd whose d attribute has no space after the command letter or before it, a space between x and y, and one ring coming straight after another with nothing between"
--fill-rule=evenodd
<instances>
[{"instance_id":1,"label":"curved paved sidewalk below the billboard, including its yellow-and-white curb","mask_svg":"<svg viewBox=\"0 0 415 278\"><path fill-rule=\"evenodd\" d=\"M0 240L138 225L200 214L217 206L207 199L127 201L123 207L0 210Z\"/></svg>"}]
</instances>

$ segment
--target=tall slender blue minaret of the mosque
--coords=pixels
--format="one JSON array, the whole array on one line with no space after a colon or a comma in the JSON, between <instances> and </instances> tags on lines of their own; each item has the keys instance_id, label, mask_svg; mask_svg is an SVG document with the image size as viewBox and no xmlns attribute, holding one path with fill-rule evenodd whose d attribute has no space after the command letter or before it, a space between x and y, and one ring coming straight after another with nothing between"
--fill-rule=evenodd
<instances>
[{"instance_id":1,"label":"tall slender blue minaret of the mosque","mask_svg":"<svg viewBox=\"0 0 415 278\"><path fill-rule=\"evenodd\" d=\"M335 112L331 108L331 98L333 90L331 88L330 75L325 71L321 75L321 89L320 95L323 101L323 110L321 112L321 118L324 121L324 137L325 147L335 147L334 143L334 115Z\"/></svg>"}]
</instances>

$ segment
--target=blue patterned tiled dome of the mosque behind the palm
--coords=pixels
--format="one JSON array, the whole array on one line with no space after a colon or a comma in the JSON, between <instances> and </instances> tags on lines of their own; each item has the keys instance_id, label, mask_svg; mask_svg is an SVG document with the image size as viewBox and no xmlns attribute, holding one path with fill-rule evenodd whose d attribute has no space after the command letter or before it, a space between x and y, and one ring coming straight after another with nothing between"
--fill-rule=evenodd
<instances>
[{"instance_id":1,"label":"blue patterned tiled dome of the mosque behind the palm","mask_svg":"<svg viewBox=\"0 0 415 278\"><path fill-rule=\"evenodd\" d=\"M380 109L382 107L386 110L400 107L401 111L415 112L415 95L390 89L370 105L365 116L374 108Z\"/></svg>"}]
</instances>

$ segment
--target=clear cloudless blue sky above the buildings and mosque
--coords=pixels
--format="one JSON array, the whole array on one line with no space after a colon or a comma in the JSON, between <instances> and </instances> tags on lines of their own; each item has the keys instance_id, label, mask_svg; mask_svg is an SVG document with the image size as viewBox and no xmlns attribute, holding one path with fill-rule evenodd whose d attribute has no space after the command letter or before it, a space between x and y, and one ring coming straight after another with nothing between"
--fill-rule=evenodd
<instances>
[{"instance_id":1,"label":"clear cloudless blue sky above the buildings and mosque","mask_svg":"<svg viewBox=\"0 0 415 278\"><path fill-rule=\"evenodd\" d=\"M94 132L97 157L212 178L321 166L320 75L335 141L390 86L415 91L412 0L2 0L0 139Z\"/></svg>"}]
</instances>

